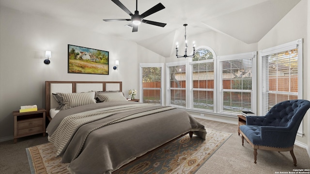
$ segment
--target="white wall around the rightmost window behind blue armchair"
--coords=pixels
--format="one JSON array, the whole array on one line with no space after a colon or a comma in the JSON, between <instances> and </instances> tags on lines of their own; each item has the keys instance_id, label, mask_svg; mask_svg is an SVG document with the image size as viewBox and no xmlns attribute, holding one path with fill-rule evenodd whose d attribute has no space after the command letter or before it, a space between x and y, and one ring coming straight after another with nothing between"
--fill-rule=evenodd
<instances>
[{"instance_id":1,"label":"white wall around the rightmost window behind blue armchair","mask_svg":"<svg viewBox=\"0 0 310 174\"><path fill-rule=\"evenodd\" d=\"M303 52L303 82L304 91L303 99L310 100L309 84L310 84L310 57L309 57L309 28L307 29L307 13L309 11L307 0L301 0L288 14L286 14L279 23L271 29L259 42L258 50L277 46L279 44L288 43L297 39L304 39L304 52ZM309 19L308 19L309 20ZM258 55L259 57L259 55ZM257 78L260 78L260 72ZM260 96L258 96L258 101ZM259 110L259 106L257 108ZM304 145L310 146L308 143L310 139L309 133L309 119L310 111L307 112L303 121L304 137L297 136L296 140Z\"/></svg>"}]
</instances>

